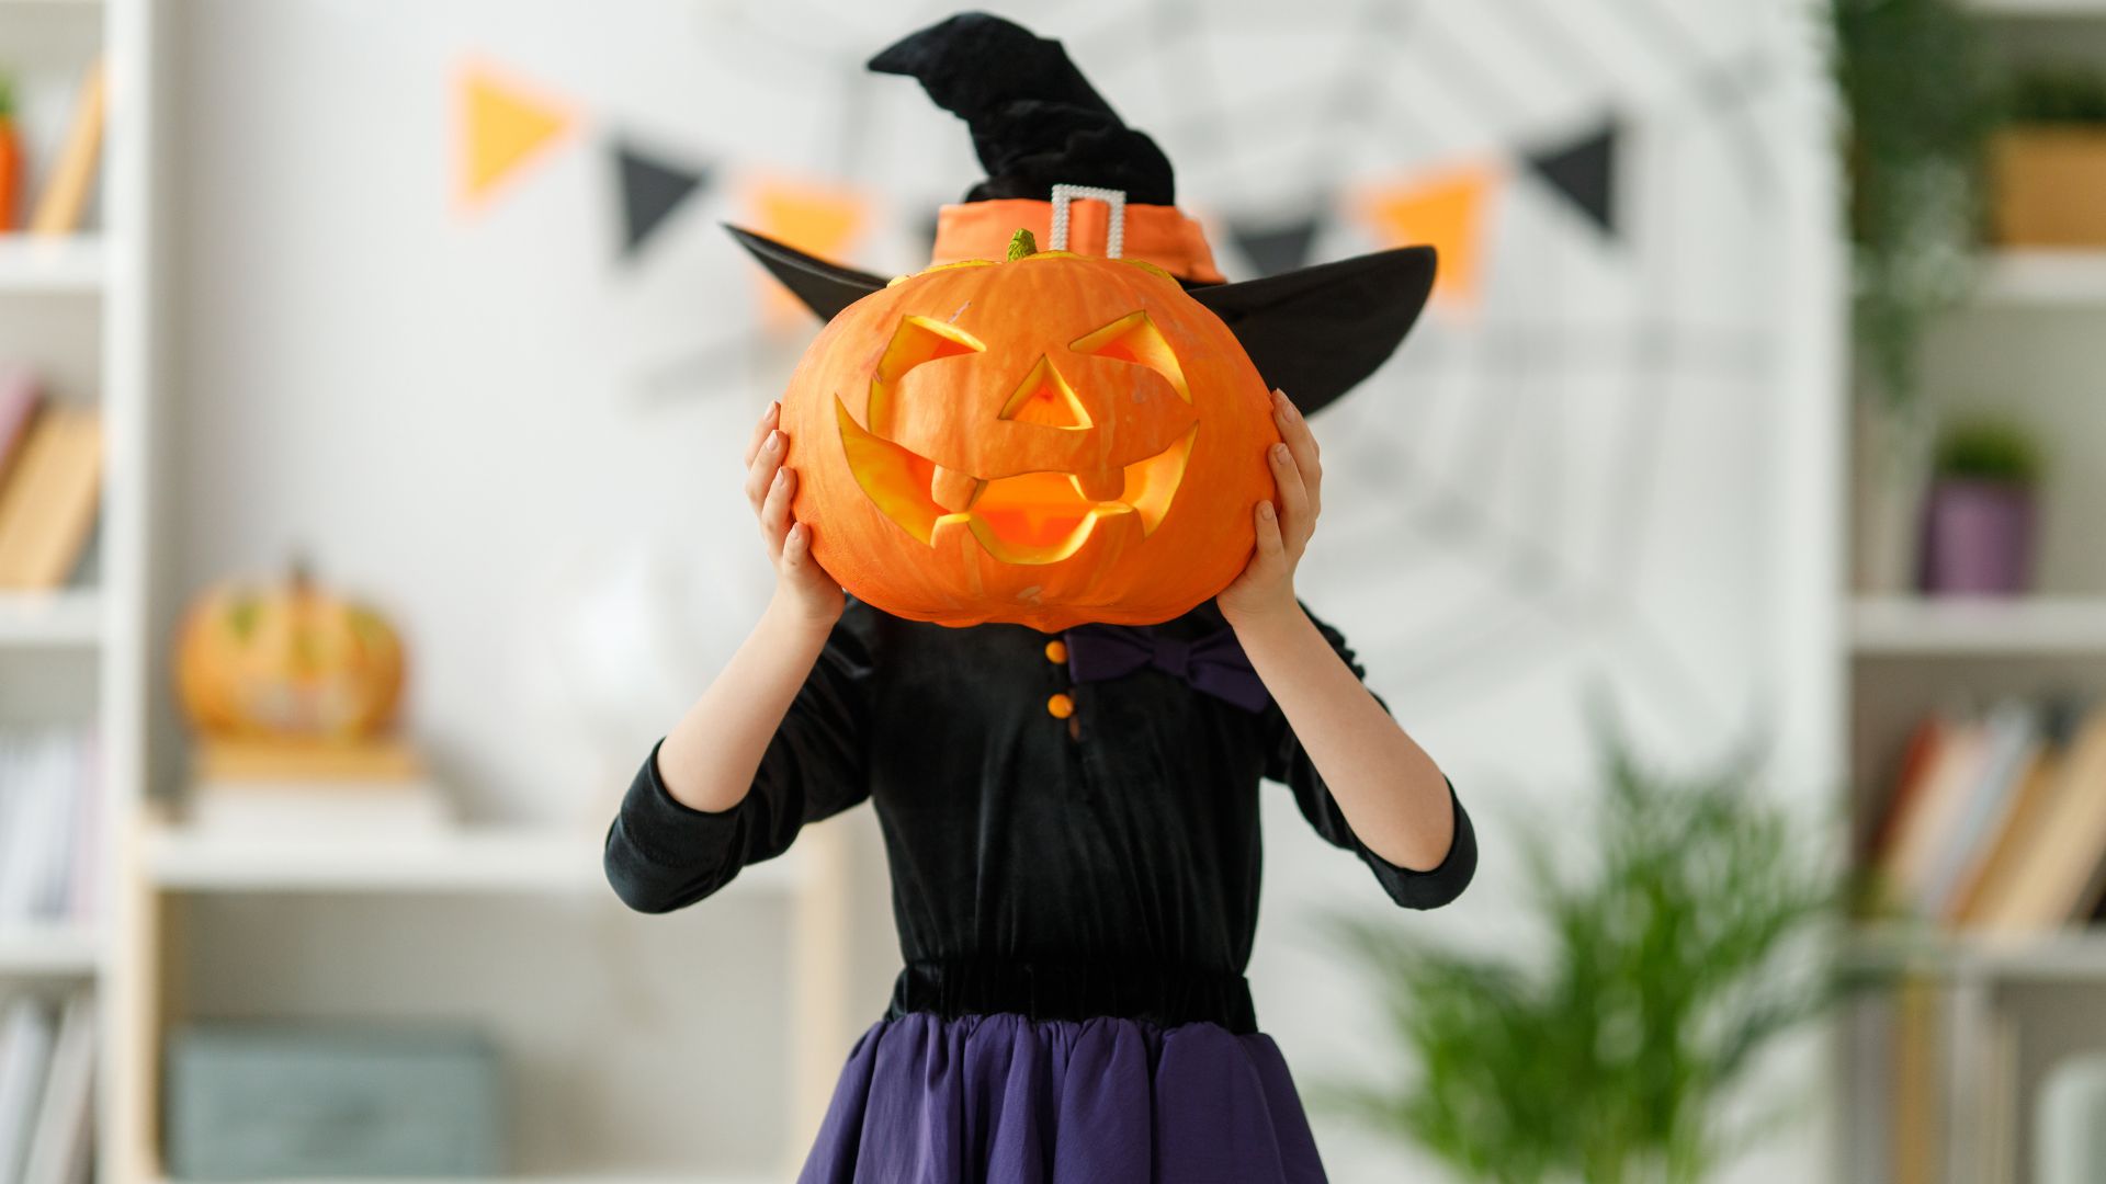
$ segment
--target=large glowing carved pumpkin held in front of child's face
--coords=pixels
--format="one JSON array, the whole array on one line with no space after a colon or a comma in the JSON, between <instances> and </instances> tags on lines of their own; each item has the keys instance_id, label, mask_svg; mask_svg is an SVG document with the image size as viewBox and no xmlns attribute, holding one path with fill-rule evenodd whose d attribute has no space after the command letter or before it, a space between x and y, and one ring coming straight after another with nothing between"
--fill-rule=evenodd
<instances>
[{"instance_id":1,"label":"large glowing carved pumpkin held in front of child's face","mask_svg":"<svg viewBox=\"0 0 2106 1184\"><path fill-rule=\"evenodd\" d=\"M1160 268L1045 251L855 301L798 362L781 423L796 516L842 588L899 617L1055 632L1165 621L1243 571L1272 497L1270 398Z\"/></svg>"}]
</instances>

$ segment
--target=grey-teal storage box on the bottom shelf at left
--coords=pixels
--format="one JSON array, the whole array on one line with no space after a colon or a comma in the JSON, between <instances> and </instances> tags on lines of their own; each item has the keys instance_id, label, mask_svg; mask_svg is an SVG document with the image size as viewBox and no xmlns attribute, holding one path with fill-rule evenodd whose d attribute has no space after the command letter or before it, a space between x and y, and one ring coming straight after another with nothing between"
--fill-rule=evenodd
<instances>
[{"instance_id":1,"label":"grey-teal storage box on the bottom shelf at left","mask_svg":"<svg viewBox=\"0 0 2106 1184\"><path fill-rule=\"evenodd\" d=\"M175 1180L501 1171L501 1072L478 1032L194 1024L166 1053Z\"/></svg>"}]
</instances>

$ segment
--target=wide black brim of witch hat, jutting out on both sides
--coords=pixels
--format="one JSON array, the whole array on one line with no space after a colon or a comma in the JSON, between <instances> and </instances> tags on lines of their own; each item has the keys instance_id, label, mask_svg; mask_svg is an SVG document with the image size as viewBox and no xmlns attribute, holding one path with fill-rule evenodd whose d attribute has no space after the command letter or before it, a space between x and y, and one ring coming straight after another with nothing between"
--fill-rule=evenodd
<instances>
[{"instance_id":1,"label":"wide black brim of witch hat, jutting out on both sides","mask_svg":"<svg viewBox=\"0 0 2106 1184\"><path fill-rule=\"evenodd\" d=\"M788 242L727 225L790 295L832 320L887 284ZM1304 415L1320 411L1375 373L1417 322L1434 287L1432 246L1396 246L1234 284L1186 284L1186 293L1228 324L1266 383Z\"/></svg>"}]
</instances>

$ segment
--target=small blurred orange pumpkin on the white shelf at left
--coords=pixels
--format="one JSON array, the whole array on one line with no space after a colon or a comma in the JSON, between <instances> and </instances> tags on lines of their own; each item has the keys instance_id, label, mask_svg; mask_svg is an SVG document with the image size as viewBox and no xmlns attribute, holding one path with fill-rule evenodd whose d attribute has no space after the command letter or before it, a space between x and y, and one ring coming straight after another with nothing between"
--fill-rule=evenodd
<instances>
[{"instance_id":1,"label":"small blurred orange pumpkin on the white shelf at left","mask_svg":"<svg viewBox=\"0 0 2106 1184\"><path fill-rule=\"evenodd\" d=\"M293 565L282 584L221 584L185 613L177 691L206 735L358 739L402 697L402 643L364 605Z\"/></svg>"}]
</instances>

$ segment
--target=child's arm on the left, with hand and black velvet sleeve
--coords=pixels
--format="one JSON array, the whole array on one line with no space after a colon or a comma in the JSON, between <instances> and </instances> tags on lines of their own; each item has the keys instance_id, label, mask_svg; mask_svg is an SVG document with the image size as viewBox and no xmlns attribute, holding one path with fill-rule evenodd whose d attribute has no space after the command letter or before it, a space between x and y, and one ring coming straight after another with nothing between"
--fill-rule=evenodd
<instances>
[{"instance_id":1,"label":"child's arm on the left, with hand and black velvet sleeve","mask_svg":"<svg viewBox=\"0 0 2106 1184\"><path fill-rule=\"evenodd\" d=\"M857 630L811 556L790 501L796 472L771 404L746 447L746 499L775 565L775 596L724 670L644 758L607 836L607 874L630 906L693 904L790 847L804 822L868 794Z\"/></svg>"}]
</instances>

